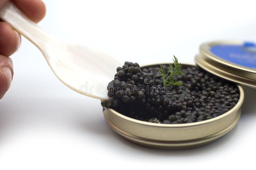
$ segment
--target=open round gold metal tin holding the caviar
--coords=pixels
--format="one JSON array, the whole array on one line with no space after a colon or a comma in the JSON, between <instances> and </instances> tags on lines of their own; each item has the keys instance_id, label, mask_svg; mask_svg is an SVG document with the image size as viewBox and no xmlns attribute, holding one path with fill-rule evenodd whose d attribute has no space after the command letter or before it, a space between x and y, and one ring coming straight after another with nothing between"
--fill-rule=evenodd
<instances>
[{"instance_id":1,"label":"open round gold metal tin holding the caviar","mask_svg":"<svg viewBox=\"0 0 256 170\"><path fill-rule=\"evenodd\" d=\"M148 66L156 66L156 64L144 67ZM195 65L182 64L182 67L188 66ZM244 101L244 91L241 86L237 85L237 87L240 98L234 108L223 115L201 122L187 124L150 123L126 117L110 108L103 108L103 115L114 131L136 144L161 149L198 147L220 138L236 126Z\"/></svg>"}]
</instances>

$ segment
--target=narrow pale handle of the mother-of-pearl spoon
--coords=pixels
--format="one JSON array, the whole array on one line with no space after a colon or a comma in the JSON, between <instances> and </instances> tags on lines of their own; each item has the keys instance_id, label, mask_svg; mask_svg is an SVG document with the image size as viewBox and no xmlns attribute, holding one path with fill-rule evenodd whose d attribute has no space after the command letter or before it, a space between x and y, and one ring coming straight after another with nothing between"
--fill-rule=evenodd
<instances>
[{"instance_id":1,"label":"narrow pale handle of the mother-of-pearl spoon","mask_svg":"<svg viewBox=\"0 0 256 170\"><path fill-rule=\"evenodd\" d=\"M17 32L35 44L40 50L50 42L50 36L10 1L0 9L0 18L12 25Z\"/></svg>"}]
</instances>

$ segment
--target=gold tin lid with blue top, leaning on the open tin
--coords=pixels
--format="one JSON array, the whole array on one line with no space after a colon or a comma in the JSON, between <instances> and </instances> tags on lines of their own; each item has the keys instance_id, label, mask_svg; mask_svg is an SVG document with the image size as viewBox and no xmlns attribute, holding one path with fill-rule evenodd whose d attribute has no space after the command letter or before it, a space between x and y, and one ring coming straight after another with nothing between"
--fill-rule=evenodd
<instances>
[{"instance_id":1,"label":"gold tin lid with blue top, leaning on the open tin","mask_svg":"<svg viewBox=\"0 0 256 170\"><path fill-rule=\"evenodd\" d=\"M242 41L214 41L204 43L195 58L204 70L256 88L256 44Z\"/></svg>"}]
</instances>

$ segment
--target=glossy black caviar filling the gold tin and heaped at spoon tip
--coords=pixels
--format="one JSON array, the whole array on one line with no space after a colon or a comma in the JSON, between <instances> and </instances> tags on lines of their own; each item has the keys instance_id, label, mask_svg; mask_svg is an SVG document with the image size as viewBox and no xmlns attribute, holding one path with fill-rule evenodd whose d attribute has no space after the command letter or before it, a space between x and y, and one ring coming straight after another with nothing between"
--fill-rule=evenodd
<instances>
[{"instance_id":1,"label":"glossy black caviar filling the gold tin and heaped at spoon tip","mask_svg":"<svg viewBox=\"0 0 256 170\"><path fill-rule=\"evenodd\" d=\"M168 70L168 65L162 65ZM239 90L231 82L196 67L182 67L174 76L182 86L163 87L159 65L140 68L125 62L108 84L111 100L101 102L125 116L153 123L180 124L208 120L232 109Z\"/></svg>"}]
</instances>

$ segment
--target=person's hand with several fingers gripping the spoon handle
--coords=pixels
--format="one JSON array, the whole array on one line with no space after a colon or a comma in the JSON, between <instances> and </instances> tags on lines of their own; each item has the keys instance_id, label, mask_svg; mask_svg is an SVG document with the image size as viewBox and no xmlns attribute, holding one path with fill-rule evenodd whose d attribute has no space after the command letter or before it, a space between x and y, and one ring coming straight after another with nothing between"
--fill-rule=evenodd
<instances>
[{"instance_id":1,"label":"person's hand with several fingers gripping the spoon handle","mask_svg":"<svg viewBox=\"0 0 256 170\"><path fill-rule=\"evenodd\" d=\"M8 0L0 0L2 8ZM42 0L12 0L31 20L39 22L44 18L45 5ZM20 47L20 34L11 25L0 21L0 99L10 88L13 78L12 59L9 57Z\"/></svg>"}]
</instances>

